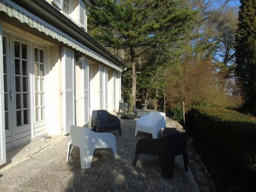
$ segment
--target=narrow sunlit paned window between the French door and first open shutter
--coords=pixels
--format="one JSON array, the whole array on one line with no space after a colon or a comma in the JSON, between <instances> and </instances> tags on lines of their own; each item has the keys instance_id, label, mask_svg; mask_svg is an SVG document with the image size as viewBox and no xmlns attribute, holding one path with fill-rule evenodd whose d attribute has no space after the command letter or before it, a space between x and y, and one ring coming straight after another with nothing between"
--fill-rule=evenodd
<instances>
[{"instance_id":1,"label":"narrow sunlit paned window between the French door and first open shutter","mask_svg":"<svg viewBox=\"0 0 256 192\"><path fill-rule=\"evenodd\" d=\"M35 122L45 120L44 50L34 48Z\"/></svg>"}]
</instances>

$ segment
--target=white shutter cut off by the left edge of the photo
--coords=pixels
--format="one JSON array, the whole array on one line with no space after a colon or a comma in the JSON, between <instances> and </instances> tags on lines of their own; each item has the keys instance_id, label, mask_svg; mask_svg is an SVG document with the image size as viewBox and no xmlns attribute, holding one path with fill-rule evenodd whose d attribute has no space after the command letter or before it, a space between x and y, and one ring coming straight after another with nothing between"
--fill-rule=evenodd
<instances>
[{"instance_id":1,"label":"white shutter cut off by the left edge of the photo","mask_svg":"<svg viewBox=\"0 0 256 192\"><path fill-rule=\"evenodd\" d=\"M6 163L2 20L0 19L0 165Z\"/></svg>"}]
</instances>

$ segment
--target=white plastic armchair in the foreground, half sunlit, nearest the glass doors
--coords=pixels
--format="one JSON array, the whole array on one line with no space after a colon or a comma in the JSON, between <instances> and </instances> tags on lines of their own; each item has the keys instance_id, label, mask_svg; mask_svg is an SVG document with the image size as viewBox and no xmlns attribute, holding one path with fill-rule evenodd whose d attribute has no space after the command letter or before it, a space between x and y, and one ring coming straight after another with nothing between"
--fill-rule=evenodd
<instances>
[{"instance_id":1,"label":"white plastic armchair in the foreground, half sunlit, nearest the glass doors","mask_svg":"<svg viewBox=\"0 0 256 192\"><path fill-rule=\"evenodd\" d=\"M117 159L116 138L111 133L95 133L88 127L71 125L67 161L70 158L71 145L80 149L81 168L91 167L95 148L112 148Z\"/></svg>"}]
</instances>

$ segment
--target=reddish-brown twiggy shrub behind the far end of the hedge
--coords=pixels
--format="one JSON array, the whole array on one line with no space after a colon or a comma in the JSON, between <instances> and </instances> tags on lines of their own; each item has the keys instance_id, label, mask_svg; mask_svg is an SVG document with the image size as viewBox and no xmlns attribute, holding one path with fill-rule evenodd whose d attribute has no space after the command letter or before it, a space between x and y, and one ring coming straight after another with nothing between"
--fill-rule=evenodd
<instances>
[{"instance_id":1,"label":"reddish-brown twiggy shrub behind the far end of the hedge","mask_svg":"<svg viewBox=\"0 0 256 192\"><path fill-rule=\"evenodd\" d=\"M216 71L211 59L185 60L181 65L170 67L168 76L166 93L170 106L180 101L185 102L186 110L193 105L234 108L242 104L240 94L230 93L238 90L238 85L228 83L225 74Z\"/></svg>"}]
</instances>

